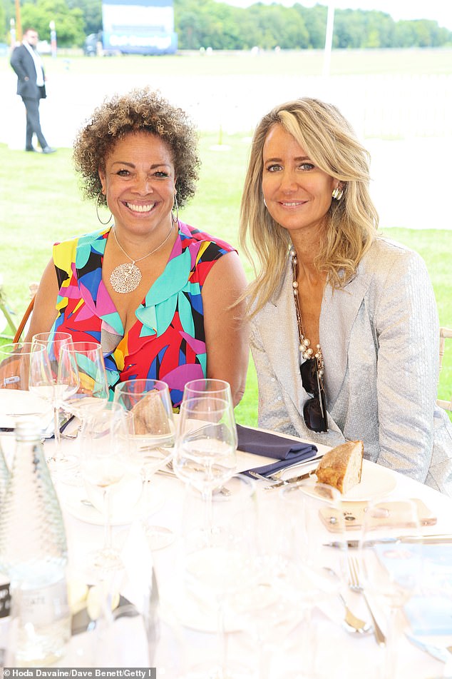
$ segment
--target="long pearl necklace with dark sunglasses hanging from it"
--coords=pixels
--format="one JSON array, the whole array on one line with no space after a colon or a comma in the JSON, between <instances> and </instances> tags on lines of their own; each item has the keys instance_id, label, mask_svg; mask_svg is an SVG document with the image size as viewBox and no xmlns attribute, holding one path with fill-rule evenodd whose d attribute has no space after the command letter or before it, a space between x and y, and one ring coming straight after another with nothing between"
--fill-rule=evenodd
<instances>
[{"instance_id":1,"label":"long pearl necklace with dark sunglasses hanging from it","mask_svg":"<svg viewBox=\"0 0 452 679\"><path fill-rule=\"evenodd\" d=\"M293 291L295 302L295 313L297 314L297 326L299 337L299 352L304 358L299 371L302 376L304 391L312 393L303 406L304 423L312 431L328 431L327 401L323 385L324 360L322 347L317 344L316 351L311 347L311 343L304 334L302 312L299 306L298 283L297 283L297 254L291 251Z\"/></svg>"}]
</instances>

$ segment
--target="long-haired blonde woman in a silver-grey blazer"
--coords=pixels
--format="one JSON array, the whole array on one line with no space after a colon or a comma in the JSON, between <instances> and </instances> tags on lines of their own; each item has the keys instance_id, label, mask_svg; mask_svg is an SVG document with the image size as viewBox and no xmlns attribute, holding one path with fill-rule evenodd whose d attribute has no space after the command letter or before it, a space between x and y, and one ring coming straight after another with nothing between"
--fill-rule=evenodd
<instances>
[{"instance_id":1,"label":"long-haired blonde woman in a silver-grey blazer","mask_svg":"<svg viewBox=\"0 0 452 679\"><path fill-rule=\"evenodd\" d=\"M377 237L369 154L337 108L276 106L257 126L240 241L260 426L364 456L452 492L452 425L436 405L438 313L415 252Z\"/></svg>"}]
</instances>

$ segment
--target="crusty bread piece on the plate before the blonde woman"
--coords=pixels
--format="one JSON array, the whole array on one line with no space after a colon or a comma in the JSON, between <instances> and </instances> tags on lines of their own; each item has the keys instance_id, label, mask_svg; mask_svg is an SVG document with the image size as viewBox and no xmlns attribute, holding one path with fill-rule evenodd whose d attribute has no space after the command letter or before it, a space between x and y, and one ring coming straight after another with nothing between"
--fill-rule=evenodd
<instances>
[{"instance_id":1,"label":"crusty bread piece on the plate before the blonde woman","mask_svg":"<svg viewBox=\"0 0 452 679\"><path fill-rule=\"evenodd\" d=\"M324 454L316 470L318 483L327 483L342 494L361 481L364 446L362 441L346 441Z\"/></svg>"}]
</instances>

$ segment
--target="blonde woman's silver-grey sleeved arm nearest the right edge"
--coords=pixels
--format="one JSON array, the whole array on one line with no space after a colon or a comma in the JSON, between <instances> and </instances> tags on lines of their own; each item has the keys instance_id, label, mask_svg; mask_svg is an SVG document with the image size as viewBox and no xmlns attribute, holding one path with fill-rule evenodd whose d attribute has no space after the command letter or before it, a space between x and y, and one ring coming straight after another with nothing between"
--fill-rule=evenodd
<instances>
[{"instance_id":1,"label":"blonde woman's silver-grey sleeved arm nearest the right edge","mask_svg":"<svg viewBox=\"0 0 452 679\"><path fill-rule=\"evenodd\" d=\"M433 451L438 313L425 263L394 259L376 306L378 462L423 483Z\"/></svg>"}]
</instances>

